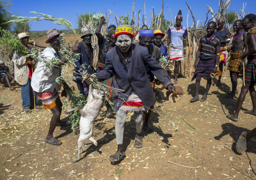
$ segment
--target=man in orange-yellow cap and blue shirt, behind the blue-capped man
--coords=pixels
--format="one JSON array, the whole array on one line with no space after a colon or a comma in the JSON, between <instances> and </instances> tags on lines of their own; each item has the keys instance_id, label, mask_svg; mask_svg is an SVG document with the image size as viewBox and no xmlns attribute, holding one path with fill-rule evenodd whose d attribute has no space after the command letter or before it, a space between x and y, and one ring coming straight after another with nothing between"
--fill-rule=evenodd
<instances>
[{"instance_id":1,"label":"man in orange-yellow cap and blue shirt, behind the blue-capped man","mask_svg":"<svg viewBox=\"0 0 256 180\"><path fill-rule=\"evenodd\" d=\"M161 50L161 54L160 56L165 56L166 60L167 60L167 56L168 56L168 48L166 46L166 44L164 44L162 42L163 38L165 37L165 34L162 33L161 30L155 30L154 31L154 41L152 43L152 45L157 46L158 48L160 48ZM166 61L167 62L167 61Z\"/></svg>"}]
</instances>

